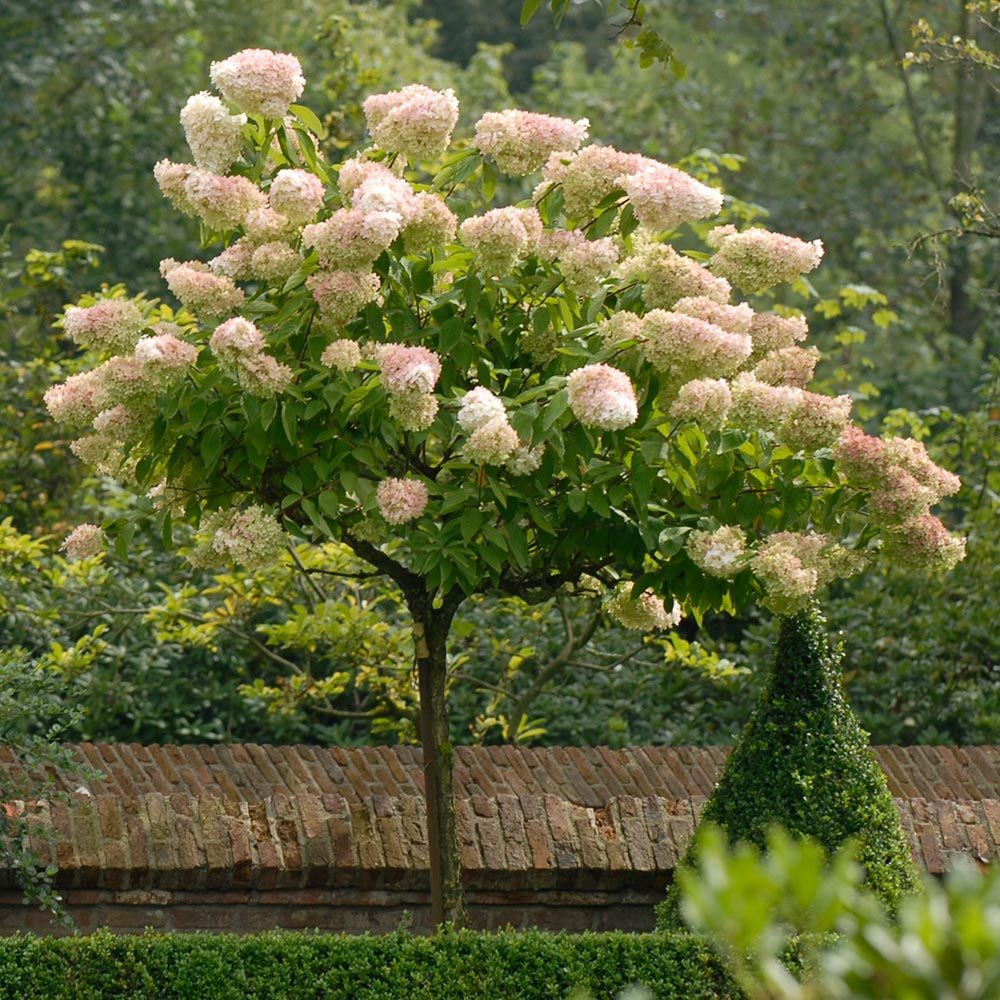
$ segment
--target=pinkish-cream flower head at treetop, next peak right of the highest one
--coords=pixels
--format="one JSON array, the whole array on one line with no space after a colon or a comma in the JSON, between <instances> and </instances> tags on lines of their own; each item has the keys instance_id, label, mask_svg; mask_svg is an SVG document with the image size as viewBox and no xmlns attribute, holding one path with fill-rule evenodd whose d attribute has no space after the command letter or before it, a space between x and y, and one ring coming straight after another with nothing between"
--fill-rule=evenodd
<instances>
[{"instance_id":1,"label":"pinkish-cream flower head at treetop, next peak right of the highest one","mask_svg":"<svg viewBox=\"0 0 1000 1000\"><path fill-rule=\"evenodd\" d=\"M362 109L375 144L408 160L440 156L458 122L455 92L431 90L419 83L387 94L372 94Z\"/></svg>"}]
</instances>

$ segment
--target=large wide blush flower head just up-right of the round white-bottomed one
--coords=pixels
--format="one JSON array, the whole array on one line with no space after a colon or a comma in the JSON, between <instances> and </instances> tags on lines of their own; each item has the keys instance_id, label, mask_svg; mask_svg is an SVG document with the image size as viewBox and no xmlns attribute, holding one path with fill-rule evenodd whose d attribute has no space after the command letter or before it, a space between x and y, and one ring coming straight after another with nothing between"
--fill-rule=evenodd
<instances>
[{"instance_id":1,"label":"large wide blush flower head just up-right of the round white-bottomed one","mask_svg":"<svg viewBox=\"0 0 1000 1000\"><path fill-rule=\"evenodd\" d=\"M642 356L675 385L728 375L750 356L750 338L683 313L652 309L643 317Z\"/></svg>"}]
</instances>

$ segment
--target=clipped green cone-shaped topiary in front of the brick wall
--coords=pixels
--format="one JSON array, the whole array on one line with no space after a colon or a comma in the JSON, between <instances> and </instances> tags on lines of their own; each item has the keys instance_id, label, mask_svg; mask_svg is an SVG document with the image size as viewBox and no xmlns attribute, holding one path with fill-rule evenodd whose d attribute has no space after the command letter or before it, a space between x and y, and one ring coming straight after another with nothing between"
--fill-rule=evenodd
<instances>
[{"instance_id":1,"label":"clipped green cone-shaped topiary in front of the brick wall","mask_svg":"<svg viewBox=\"0 0 1000 1000\"><path fill-rule=\"evenodd\" d=\"M815 605L781 619L771 674L700 822L761 848L776 823L828 851L853 837L866 884L895 911L917 890L917 871L885 774L840 689L839 664ZM689 847L681 865L693 863ZM677 896L675 881L657 908L661 929L681 924Z\"/></svg>"}]
</instances>

